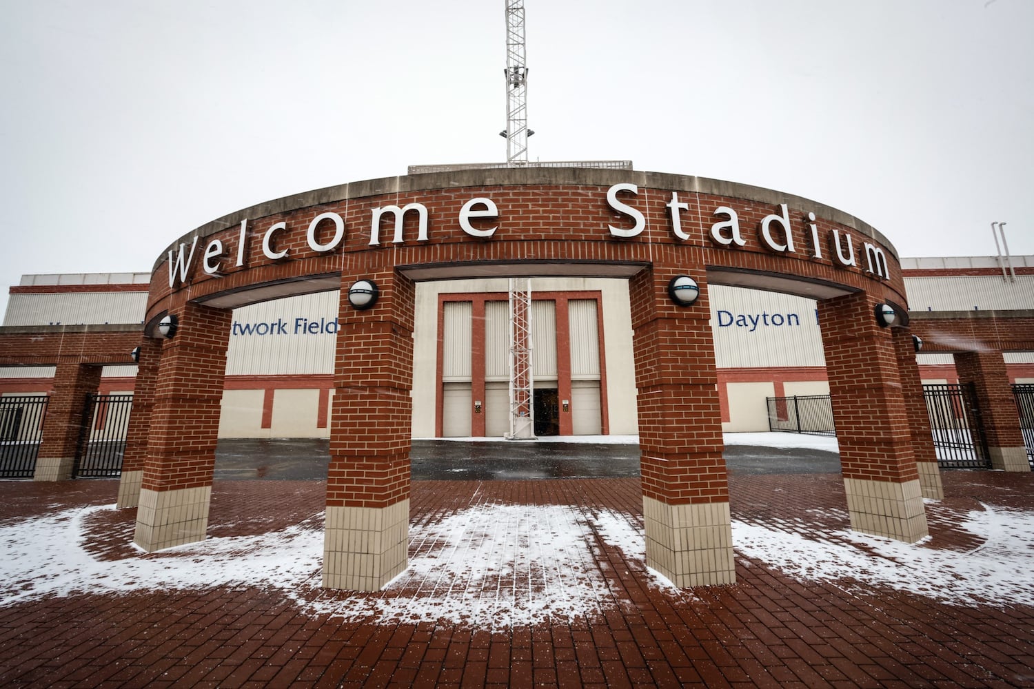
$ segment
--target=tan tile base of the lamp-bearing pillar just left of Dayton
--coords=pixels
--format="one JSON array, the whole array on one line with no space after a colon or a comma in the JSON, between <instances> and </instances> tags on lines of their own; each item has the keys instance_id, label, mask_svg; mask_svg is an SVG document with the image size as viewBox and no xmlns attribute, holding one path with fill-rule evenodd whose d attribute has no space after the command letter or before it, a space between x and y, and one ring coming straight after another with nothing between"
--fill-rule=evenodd
<instances>
[{"instance_id":1,"label":"tan tile base of the lamp-bearing pillar just left of Dayton","mask_svg":"<svg viewBox=\"0 0 1034 689\"><path fill-rule=\"evenodd\" d=\"M643 496L646 564L680 588L735 584L728 502L669 505Z\"/></svg>"}]
</instances>

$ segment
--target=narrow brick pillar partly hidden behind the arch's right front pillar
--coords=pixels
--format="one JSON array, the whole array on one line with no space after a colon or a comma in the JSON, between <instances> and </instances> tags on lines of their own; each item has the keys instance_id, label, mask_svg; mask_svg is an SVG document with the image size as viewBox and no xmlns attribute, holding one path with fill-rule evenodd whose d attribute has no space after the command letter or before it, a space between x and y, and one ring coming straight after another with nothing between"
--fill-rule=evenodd
<instances>
[{"instance_id":1,"label":"narrow brick pillar partly hidden behind the arch's right front pillar","mask_svg":"<svg viewBox=\"0 0 1034 689\"><path fill-rule=\"evenodd\" d=\"M922 397L922 380L919 366L915 362L915 344L912 332L907 327L892 331L894 351L898 354L898 375L902 382L902 397L905 398L905 413L912 435L912 455L915 468L919 472L922 497L931 500L944 499L944 484L941 482L941 468L937 465L937 450L934 449L934 435L930 429L930 412Z\"/></svg>"}]
</instances>

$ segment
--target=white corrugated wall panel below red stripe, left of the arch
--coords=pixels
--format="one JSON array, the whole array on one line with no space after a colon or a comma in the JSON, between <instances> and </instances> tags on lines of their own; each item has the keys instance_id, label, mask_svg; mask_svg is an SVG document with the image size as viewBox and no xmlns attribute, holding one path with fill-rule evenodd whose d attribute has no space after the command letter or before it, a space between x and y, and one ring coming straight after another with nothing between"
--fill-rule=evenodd
<instances>
[{"instance_id":1,"label":"white corrugated wall panel below red stripe, left of the arch","mask_svg":"<svg viewBox=\"0 0 1034 689\"><path fill-rule=\"evenodd\" d=\"M142 323L147 292L11 294L4 325Z\"/></svg>"}]
</instances>

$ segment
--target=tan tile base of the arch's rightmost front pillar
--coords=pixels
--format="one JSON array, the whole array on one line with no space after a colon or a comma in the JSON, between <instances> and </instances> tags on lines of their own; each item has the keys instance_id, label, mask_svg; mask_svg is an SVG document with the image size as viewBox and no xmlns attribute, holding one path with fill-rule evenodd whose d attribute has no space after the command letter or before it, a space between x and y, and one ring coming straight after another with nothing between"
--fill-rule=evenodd
<instances>
[{"instance_id":1,"label":"tan tile base of the arch's rightmost front pillar","mask_svg":"<svg viewBox=\"0 0 1034 689\"><path fill-rule=\"evenodd\" d=\"M894 483L845 478L844 490L854 531L906 543L930 535L919 479Z\"/></svg>"}]
</instances>

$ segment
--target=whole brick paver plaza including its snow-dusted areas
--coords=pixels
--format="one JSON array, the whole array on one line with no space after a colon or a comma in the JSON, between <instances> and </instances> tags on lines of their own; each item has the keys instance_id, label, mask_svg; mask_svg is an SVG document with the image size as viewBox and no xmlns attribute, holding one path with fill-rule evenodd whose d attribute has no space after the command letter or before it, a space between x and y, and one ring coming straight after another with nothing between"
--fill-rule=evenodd
<instances>
[{"instance_id":1,"label":"whole brick paver plaza including its snow-dusted areas","mask_svg":"<svg viewBox=\"0 0 1034 689\"><path fill-rule=\"evenodd\" d=\"M130 544L136 510L111 508L115 480L4 481L0 684L1034 686L1021 529L1034 476L946 472L944 488L926 504L931 538L894 545L903 558L849 531L840 475L732 472L737 582L677 590L645 567L638 479L416 481L409 570L386 591L349 593L320 588L322 481L217 481L209 539L151 555ZM1013 531L966 527L981 514ZM85 563L55 570L94 567L69 585L78 592L43 567L11 573L23 557L11 539L48 519ZM752 550L766 540L752 529L814 551L773 564ZM269 534L310 571L253 563ZM231 559L206 550L219 543ZM814 569L838 552L860 563L854 575ZM908 554L933 558L933 571L913 571ZM981 559L991 568L970 577ZM233 581L234 562L252 563L251 581ZM162 567L195 583L149 583ZM895 575L903 584L887 583ZM926 591L923 576L936 580Z\"/></svg>"}]
</instances>

